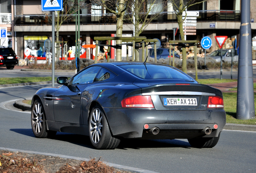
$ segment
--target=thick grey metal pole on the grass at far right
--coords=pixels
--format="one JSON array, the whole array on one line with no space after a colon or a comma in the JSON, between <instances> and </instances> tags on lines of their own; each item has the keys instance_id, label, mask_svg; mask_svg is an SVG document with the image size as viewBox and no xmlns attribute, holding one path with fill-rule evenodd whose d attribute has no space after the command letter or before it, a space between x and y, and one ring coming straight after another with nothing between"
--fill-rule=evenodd
<instances>
[{"instance_id":1,"label":"thick grey metal pole on the grass at far right","mask_svg":"<svg viewBox=\"0 0 256 173\"><path fill-rule=\"evenodd\" d=\"M250 24L250 0L241 1L241 26L239 34L239 59L237 80L237 119L252 119L254 89L252 71L252 30Z\"/></svg>"}]
</instances>

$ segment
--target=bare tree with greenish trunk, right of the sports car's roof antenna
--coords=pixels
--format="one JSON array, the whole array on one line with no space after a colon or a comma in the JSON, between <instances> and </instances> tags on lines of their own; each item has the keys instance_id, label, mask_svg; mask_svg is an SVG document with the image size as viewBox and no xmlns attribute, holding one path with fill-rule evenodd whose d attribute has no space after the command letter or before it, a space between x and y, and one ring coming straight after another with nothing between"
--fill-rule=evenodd
<instances>
[{"instance_id":1,"label":"bare tree with greenish trunk, right of the sports car's roof antenna","mask_svg":"<svg viewBox=\"0 0 256 173\"><path fill-rule=\"evenodd\" d=\"M173 10L177 14L178 18L178 24L180 28L180 37L182 40L185 40L184 32L183 32L183 22L186 20L186 16L184 19L182 19L182 13L190 6L200 4L202 2L205 2L207 0L169 0L173 6ZM187 73L187 59L186 59L186 48L182 48L182 71Z\"/></svg>"}]
</instances>

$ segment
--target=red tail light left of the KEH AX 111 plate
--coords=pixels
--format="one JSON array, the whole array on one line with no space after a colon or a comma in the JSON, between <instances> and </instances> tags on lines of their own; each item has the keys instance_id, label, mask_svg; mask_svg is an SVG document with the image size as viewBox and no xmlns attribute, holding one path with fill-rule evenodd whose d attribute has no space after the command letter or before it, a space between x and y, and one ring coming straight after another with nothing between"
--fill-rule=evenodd
<instances>
[{"instance_id":1,"label":"red tail light left of the KEH AX 111 plate","mask_svg":"<svg viewBox=\"0 0 256 173\"><path fill-rule=\"evenodd\" d=\"M150 96L133 96L122 100L122 107L154 108Z\"/></svg>"}]
</instances>

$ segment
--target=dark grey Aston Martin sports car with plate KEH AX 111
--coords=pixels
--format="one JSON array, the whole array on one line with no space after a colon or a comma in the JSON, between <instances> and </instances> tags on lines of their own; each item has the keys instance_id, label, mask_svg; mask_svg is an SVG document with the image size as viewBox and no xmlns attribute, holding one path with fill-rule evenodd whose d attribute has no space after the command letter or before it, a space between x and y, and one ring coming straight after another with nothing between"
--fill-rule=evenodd
<instances>
[{"instance_id":1,"label":"dark grey Aston Martin sports car with plate KEH AX 111","mask_svg":"<svg viewBox=\"0 0 256 173\"><path fill-rule=\"evenodd\" d=\"M98 63L57 83L33 96L36 137L88 135L97 149L115 149L124 138L188 139L211 148L226 123L221 91L168 65Z\"/></svg>"}]
</instances>

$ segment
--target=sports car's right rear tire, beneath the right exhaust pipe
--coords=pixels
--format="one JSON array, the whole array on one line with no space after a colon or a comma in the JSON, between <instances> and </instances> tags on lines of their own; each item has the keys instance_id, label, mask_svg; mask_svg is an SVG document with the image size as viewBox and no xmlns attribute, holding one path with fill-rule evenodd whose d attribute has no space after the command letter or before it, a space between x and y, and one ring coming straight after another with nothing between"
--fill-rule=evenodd
<instances>
[{"instance_id":1,"label":"sports car's right rear tire, beneath the right exhaust pipe","mask_svg":"<svg viewBox=\"0 0 256 173\"><path fill-rule=\"evenodd\" d=\"M194 148L213 148L215 145L217 145L220 135L221 133L219 133L218 137L201 137L188 139L188 142Z\"/></svg>"}]
</instances>

